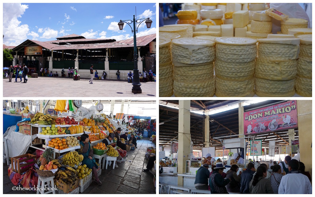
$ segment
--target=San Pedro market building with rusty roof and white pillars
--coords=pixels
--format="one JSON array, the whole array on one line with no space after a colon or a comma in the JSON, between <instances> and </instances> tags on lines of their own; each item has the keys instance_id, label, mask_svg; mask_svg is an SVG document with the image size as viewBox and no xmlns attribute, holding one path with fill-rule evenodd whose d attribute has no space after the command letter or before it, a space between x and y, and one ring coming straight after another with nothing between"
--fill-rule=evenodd
<instances>
[{"instance_id":1,"label":"San Pedro market building with rusty roof and white pillars","mask_svg":"<svg viewBox=\"0 0 315 197\"><path fill-rule=\"evenodd\" d=\"M137 37L138 69L142 73L156 71L156 34ZM26 64L33 73L41 68L48 68L53 73L64 68L78 68L82 77L89 77L91 64L99 73L105 71L109 79L127 79L129 71L133 72L134 40L127 39L87 39L76 34L66 35L52 41L26 40L14 47L13 65Z\"/></svg>"}]
</instances>

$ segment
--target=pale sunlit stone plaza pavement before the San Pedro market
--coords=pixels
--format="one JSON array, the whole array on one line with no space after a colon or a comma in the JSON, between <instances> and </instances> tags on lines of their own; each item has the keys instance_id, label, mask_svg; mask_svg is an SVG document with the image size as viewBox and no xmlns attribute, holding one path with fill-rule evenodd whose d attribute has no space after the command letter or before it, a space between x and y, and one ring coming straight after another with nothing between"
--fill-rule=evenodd
<instances>
[{"instance_id":1,"label":"pale sunlit stone plaza pavement before the San Pedro market","mask_svg":"<svg viewBox=\"0 0 315 197\"><path fill-rule=\"evenodd\" d=\"M23 79L22 79L23 82ZM9 82L3 79L3 97L156 97L156 82L141 83L141 94L131 92L132 83L114 80L88 79L74 81L69 78L29 78L27 83L15 83L15 78Z\"/></svg>"}]
</instances>

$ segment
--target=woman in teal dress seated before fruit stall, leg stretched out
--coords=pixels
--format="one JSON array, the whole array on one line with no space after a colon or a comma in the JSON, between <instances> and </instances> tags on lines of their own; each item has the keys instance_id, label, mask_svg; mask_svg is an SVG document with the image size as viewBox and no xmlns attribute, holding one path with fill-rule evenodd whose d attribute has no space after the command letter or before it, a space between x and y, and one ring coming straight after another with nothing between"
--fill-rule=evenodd
<instances>
[{"instance_id":1,"label":"woman in teal dress seated before fruit stall, leg stretched out","mask_svg":"<svg viewBox=\"0 0 315 197\"><path fill-rule=\"evenodd\" d=\"M84 159L82 160L82 165L86 165L88 168L92 169L92 172L95 177L95 182L99 185L102 185L102 182L97 176L97 168L95 159L93 158L93 148L89 142L89 135L83 134L80 139L80 150L78 151L79 154L82 154Z\"/></svg>"}]
</instances>

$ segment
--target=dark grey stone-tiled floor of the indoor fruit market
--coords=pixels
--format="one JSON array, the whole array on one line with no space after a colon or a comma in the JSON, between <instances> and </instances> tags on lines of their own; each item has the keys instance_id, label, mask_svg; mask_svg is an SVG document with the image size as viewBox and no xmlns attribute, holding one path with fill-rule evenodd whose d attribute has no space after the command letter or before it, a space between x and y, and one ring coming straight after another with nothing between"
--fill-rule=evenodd
<instances>
[{"instance_id":1,"label":"dark grey stone-tiled floor of the indoor fruit market","mask_svg":"<svg viewBox=\"0 0 315 197\"><path fill-rule=\"evenodd\" d=\"M137 141L137 148L127 152L127 161L118 163L118 168L104 168L100 175L103 185L92 181L83 194L156 194L153 175L144 172L148 160L145 159L147 147L155 147L149 138ZM3 164L3 194L34 194L32 191L13 191L13 183L8 177L8 166Z\"/></svg>"}]
</instances>

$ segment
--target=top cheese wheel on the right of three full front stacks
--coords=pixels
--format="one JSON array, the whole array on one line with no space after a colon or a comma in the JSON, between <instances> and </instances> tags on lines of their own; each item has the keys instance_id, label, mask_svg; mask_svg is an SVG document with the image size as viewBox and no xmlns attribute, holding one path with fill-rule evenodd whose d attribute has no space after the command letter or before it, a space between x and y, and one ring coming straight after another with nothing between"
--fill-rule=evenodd
<instances>
[{"instance_id":1,"label":"top cheese wheel on the right of three full front stacks","mask_svg":"<svg viewBox=\"0 0 315 197\"><path fill-rule=\"evenodd\" d=\"M258 39L258 57L269 60L295 60L299 58L300 39L264 38Z\"/></svg>"}]
</instances>

